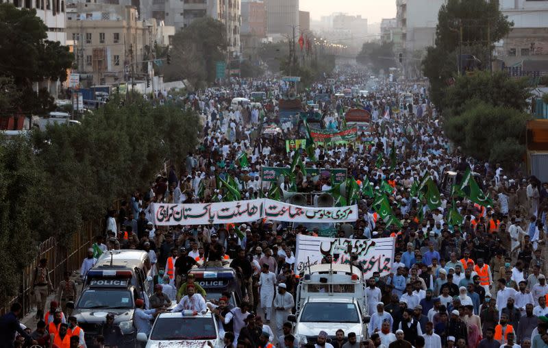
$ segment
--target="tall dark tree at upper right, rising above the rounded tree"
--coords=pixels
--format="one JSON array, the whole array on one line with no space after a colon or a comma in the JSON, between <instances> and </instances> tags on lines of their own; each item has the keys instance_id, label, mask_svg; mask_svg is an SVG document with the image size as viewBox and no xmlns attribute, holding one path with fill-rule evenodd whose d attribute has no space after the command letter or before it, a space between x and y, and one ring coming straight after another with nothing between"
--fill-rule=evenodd
<instances>
[{"instance_id":1,"label":"tall dark tree at upper right, rising above the rounded tree","mask_svg":"<svg viewBox=\"0 0 548 348\"><path fill-rule=\"evenodd\" d=\"M442 5L438 12L435 47L427 49L423 60L423 73L429 78L432 101L440 105L443 100L449 79L458 71L457 57L461 48L462 54L475 55L482 60L482 69L487 69L488 51L493 49L494 42L510 32L512 26L499 10L498 1L449 0Z\"/></svg>"}]
</instances>

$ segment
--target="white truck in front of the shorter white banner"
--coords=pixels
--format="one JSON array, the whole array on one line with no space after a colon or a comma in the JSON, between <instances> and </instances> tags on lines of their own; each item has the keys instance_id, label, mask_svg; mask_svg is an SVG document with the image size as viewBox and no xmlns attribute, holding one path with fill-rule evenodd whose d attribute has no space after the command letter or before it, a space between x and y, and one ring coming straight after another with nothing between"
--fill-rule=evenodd
<instances>
[{"instance_id":1,"label":"white truck in front of the shorter white banner","mask_svg":"<svg viewBox=\"0 0 548 348\"><path fill-rule=\"evenodd\" d=\"M315 344L321 331L332 340L338 329L356 333L358 342L367 338L366 283L361 271L351 264L316 264L299 278L296 312L288 316L295 323L300 347Z\"/></svg>"}]
</instances>

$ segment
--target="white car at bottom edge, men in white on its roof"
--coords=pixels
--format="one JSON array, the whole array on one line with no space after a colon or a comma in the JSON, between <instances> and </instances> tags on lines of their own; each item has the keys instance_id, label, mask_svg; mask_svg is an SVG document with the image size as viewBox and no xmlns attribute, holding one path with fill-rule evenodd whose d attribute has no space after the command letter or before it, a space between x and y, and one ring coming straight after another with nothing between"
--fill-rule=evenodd
<instances>
[{"instance_id":1,"label":"white car at bottom edge, men in white on its roof","mask_svg":"<svg viewBox=\"0 0 548 348\"><path fill-rule=\"evenodd\" d=\"M146 348L208 347L222 348L223 338L213 314L185 315L184 312L162 313L156 317L150 336L142 332L137 340L147 343Z\"/></svg>"}]
</instances>

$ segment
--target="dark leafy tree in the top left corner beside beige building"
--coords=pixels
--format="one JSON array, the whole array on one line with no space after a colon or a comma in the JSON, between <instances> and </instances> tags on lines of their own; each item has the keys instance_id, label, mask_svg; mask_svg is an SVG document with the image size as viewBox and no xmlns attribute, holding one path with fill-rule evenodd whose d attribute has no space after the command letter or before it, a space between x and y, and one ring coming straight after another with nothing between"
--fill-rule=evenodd
<instances>
[{"instance_id":1,"label":"dark leafy tree in the top left corner beside beige building","mask_svg":"<svg viewBox=\"0 0 548 348\"><path fill-rule=\"evenodd\" d=\"M47 90L36 94L32 92L32 84L44 79L64 82L73 54L59 42L46 40L46 32L47 27L36 16L36 10L0 4L0 77L9 78L21 92L8 95L11 100L0 104L7 107L0 110L1 114L42 114L53 108ZM5 94L5 90L0 94Z\"/></svg>"}]
</instances>

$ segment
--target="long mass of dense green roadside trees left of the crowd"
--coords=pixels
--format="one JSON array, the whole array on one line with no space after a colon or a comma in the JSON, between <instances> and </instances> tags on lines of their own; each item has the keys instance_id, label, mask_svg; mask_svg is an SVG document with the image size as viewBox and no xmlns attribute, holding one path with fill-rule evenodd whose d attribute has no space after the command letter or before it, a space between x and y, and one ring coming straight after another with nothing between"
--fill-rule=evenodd
<instances>
[{"instance_id":1,"label":"long mass of dense green roadside trees left of the crowd","mask_svg":"<svg viewBox=\"0 0 548 348\"><path fill-rule=\"evenodd\" d=\"M196 114L175 106L137 101L120 107L114 100L82 127L34 133L45 181L40 202L48 207L36 216L42 238L70 235L82 221L102 216L114 199L148 187L165 158L182 165L197 145L198 127Z\"/></svg>"}]
</instances>

